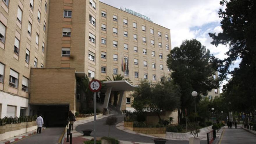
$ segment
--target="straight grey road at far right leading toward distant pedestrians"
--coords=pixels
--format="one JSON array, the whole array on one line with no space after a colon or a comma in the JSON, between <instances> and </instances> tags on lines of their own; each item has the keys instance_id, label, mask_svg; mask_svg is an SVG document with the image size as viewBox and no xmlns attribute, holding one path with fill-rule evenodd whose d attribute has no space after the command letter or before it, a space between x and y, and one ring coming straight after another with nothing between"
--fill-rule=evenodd
<instances>
[{"instance_id":1,"label":"straight grey road at far right leading toward distant pedestrians","mask_svg":"<svg viewBox=\"0 0 256 144\"><path fill-rule=\"evenodd\" d=\"M238 129L225 129L223 132L223 138L220 139L219 144L255 144L256 136L248 131Z\"/></svg>"}]
</instances>

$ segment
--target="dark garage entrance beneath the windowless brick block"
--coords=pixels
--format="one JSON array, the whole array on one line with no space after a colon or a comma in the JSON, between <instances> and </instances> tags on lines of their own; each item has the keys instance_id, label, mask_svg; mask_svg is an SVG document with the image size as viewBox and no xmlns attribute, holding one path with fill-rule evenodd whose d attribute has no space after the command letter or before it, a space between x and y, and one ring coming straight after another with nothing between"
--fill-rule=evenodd
<instances>
[{"instance_id":1,"label":"dark garage entrance beneath the windowless brick block","mask_svg":"<svg viewBox=\"0 0 256 144\"><path fill-rule=\"evenodd\" d=\"M65 127L67 124L69 105L32 105L34 114L42 114L44 126Z\"/></svg>"}]
</instances>

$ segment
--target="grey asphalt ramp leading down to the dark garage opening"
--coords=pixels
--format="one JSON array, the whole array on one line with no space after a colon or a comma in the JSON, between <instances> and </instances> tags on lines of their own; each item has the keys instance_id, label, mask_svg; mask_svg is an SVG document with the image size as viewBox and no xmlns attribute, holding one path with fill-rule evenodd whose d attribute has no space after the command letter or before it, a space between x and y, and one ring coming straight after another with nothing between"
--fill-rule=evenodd
<instances>
[{"instance_id":1,"label":"grey asphalt ramp leading down to the dark garage opening","mask_svg":"<svg viewBox=\"0 0 256 144\"><path fill-rule=\"evenodd\" d=\"M43 130L41 134L34 134L15 142L15 144L56 144L63 131L64 127L49 127Z\"/></svg>"}]
</instances>

